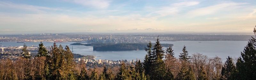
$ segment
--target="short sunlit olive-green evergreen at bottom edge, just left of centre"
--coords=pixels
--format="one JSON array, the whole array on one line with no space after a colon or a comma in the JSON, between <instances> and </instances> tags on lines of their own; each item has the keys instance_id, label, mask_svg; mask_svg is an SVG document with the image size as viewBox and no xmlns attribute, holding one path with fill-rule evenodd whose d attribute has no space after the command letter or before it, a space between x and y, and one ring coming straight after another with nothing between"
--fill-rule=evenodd
<instances>
[{"instance_id":1,"label":"short sunlit olive-green evergreen at bottom edge, just left of centre","mask_svg":"<svg viewBox=\"0 0 256 80\"><path fill-rule=\"evenodd\" d=\"M129 79L131 79L131 78L130 78L128 68L126 67L125 63L122 62L119 72L116 75L115 80L129 80Z\"/></svg>"}]
</instances>

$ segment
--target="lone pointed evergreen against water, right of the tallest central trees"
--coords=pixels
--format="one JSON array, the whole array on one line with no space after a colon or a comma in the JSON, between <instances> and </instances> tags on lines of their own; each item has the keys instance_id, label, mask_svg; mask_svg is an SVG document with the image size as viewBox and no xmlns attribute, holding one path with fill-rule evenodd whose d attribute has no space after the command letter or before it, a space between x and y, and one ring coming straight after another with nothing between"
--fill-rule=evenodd
<instances>
[{"instance_id":1,"label":"lone pointed evergreen against water, right of the tallest central trees","mask_svg":"<svg viewBox=\"0 0 256 80\"><path fill-rule=\"evenodd\" d=\"M179 56L180 58L180 61L182 61L182 62L190 62L190 56L188 56L188 51L187 51L187 49L186 49L186 46L184 46L183 47L183 49L182 49L182 53L180 53L180 56Z\"/></svg>"}]
</instances>

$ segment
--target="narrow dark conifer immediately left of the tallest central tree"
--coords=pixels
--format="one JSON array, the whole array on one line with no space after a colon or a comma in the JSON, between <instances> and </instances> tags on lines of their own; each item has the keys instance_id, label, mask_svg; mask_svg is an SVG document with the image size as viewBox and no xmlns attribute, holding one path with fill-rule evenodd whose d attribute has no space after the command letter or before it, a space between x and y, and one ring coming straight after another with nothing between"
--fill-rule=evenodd
<instances>
[{"instance_id":1,"label":"narrow dark conifer immediately left of the tallest central tree","mask_svg":"<svg viewBox=\"0 0 256 80\"><path fill-rule=\"evenodd\" d=\"M151 75L151 66L152 66L152 63L153 63L153 54L152 54L152 43L149 42L148 45L147 45L147 48L145 48L145 51L147 52L146 56L145 56L145 60L143 62L143 65L144 65L144 70L145 70L145 74L146 75Z\"/></svg>"}]
</instances>

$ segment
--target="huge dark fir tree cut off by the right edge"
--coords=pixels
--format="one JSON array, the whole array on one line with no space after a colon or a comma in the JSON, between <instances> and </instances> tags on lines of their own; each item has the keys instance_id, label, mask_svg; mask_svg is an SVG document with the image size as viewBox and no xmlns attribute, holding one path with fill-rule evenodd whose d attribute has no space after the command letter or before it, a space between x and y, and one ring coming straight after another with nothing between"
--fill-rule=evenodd
<instances>
[{"instance_id":1,"label":"huge dark fir tree cut off by the right edge","mask_svg":"<svg viewBox=\"0 0 256 80\"><path fill-rule=\"evenodd\" d=\"M256 26L255 26L256 28ZM256 29L253 29L256 35ZM253 80L256 77L256 39L251 37L244 51L241 52L241 57L236 62L236 75L233 75L236 80Z\"/></svg>"}]
</instances>

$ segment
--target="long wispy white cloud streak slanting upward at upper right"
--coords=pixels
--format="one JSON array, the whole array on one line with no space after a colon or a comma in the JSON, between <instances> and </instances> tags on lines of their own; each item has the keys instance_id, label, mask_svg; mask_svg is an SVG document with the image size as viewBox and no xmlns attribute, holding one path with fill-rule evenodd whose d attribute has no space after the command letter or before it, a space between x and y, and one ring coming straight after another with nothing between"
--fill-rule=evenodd
<instances>
[{"instance_id":1,"label":"long wispy white cloud streak slanting upward at upper right","mask_svg":"<svg viewBox=\"0 0 256 80\"><path fill-rule=\"evenodd\" d=\"M227 10L228 7L234 7L239 5L244 5L248 3L220 3L217 5L212 5L204 8L199 8L195 10L191 10L188 12L188 15L195 17L195 16L203 16L203 15L210 15L214 14L216 12L219 12L220 10Z\"/></svg>"}]
</instances>

